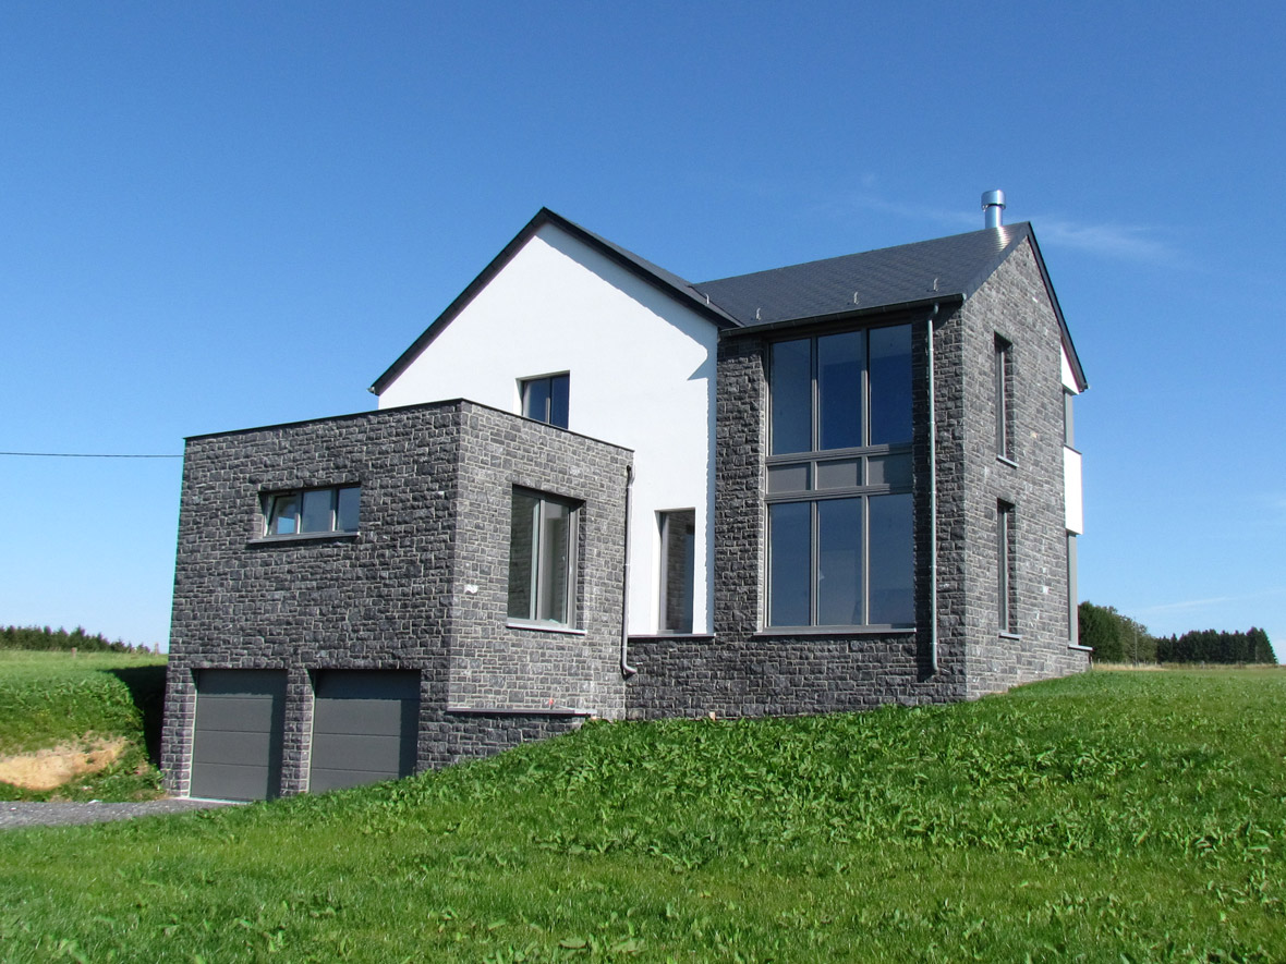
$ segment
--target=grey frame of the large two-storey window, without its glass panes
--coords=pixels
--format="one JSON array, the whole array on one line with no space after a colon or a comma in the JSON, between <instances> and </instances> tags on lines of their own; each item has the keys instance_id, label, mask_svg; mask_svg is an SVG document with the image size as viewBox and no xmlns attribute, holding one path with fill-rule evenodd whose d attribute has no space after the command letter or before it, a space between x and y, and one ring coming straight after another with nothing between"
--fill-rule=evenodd
<instances>
[{"instance_id":1,"label":"grey frame of the large two-storey window, without its glass panes","mask_svg":"<svg viewBox=\"0 0 1286 964\"><path fill-rule=\"evenodd\" d=\"M871 379L871 333L878 332L881 329L904 328L908 339L908 352L907 352L907 397L905 404L908 411L905 422L909 436L905 441L896 442L880 442L872 443L872 379ZM846 334L846 333L860 333L864 335L862 342L862 370L859 374L860 388L858 392L858 405L860 411L858 413L859 429L858 436L862 445L836 447L836 449L823 449L822 446L822 370L820 370L820 348L819 339L827 338L833 334ZM774 391L774 359L773 352L778 351L778 346L788 342L809 342L809 425L810 425L810 449L808 451L793 451L793 452L779 452L774 454L773 440L775 433L775 415L777 411L773 407L773 391ZM764 586L764 612L763 612L763 626L765 632L810 632L810 631L844 631L844 630L876 630L876 631L899 631L914 629L916 626L916 612L914 612L914 593L916 593L916 564L914 564L914 464L913 464L913 447L914 447L914 332L909 323L899 323L894 325L872 325L865 328L847 328L847 329L828 329L822 330L811 335L795 337L795 338L782 338L774 341L768 348L768 396L766 396L766 420L768 420L768 455L765 456L765 485L764 485L764 541L765 541L765 578L763 580ZM797 387L796 387L797 388ZM799 393L802 397L804 393ZM881 407L881 406L874 406ZM797 414L795 415L796 422L799 420ZM796 424L796 428L799 425ZM878 465L880 472L873 472L873 467ZM826 474L826 469L832 469L835 474L845 473L850 476L850 479L845 482L836 483L832 478L829 482L822 481L822 476ZM782 470L799 469L800 473L796 476L799 479L791 487L783 487L774 491L773 476L774 470L783 479L786 473ZM887 472L892 469L892 473ZM872 482L872 478L876 478ZM783 482L783 485L790 485L790 482ZM905 526L909 530L907 532L907 551L909 553L908 572L905 573L907 586L909 589L909 612L907 613L905 621L898 622L871 622L872 613L872 506L871 500L882 496L905 496L908 500L908 508L905 509ZM822 590L820 584L824 573L822 573L820 555L823 553L823 536L819 523L819 518L823 513L822 505L828 501L837 500L853 500L858 504L859 510L859 540L860 545L856 548L856 564L860 567L859 585L856 586L856 599L854 600L855 608L860 612L862 622L842 622L831 623L820 622L822 607L820 598ZM808 572L808 622L797 623L777 623L774 622L774 599L773 599L773 585L775 582L777 571L775 564L775 551L773 540L773 506L778 505L808 505L808 555L809 555L809 572ZM876 546L876 551L880 548ZM899 573L899 577L901 573ZM797 600L796 600L797 602Z\"/></svg>"}]
</instances>

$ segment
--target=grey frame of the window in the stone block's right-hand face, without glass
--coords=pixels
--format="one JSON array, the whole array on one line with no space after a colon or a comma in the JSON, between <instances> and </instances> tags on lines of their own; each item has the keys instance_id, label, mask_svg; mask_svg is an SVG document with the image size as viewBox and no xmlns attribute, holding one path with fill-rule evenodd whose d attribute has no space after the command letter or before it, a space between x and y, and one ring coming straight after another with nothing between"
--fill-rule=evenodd
<instances>
[{"instance_id":1,"label":"grey frame of the window in the stone block's right-hand face, without glass","mask_svg":"<svg viewBox=\"0 0 1286 964\"><path fill-rule=\"evenodd\" d=\"M535 515L529 530L530 540L530 575L526 586L526 614L514 613L516 584L514 584L514 537L518 532L520 499L535 503ZM550 519L549 506L559 506L567 513L567 530L565 533L566 554L558 563L565 581L563 593L559 594L562 603L562 618L544 614L545 602L549 596L549 580L556 576L550 572L545 542L548 523ZM549 629L574 630L577 625L576 598L579 590L580 572L580 513L584 504L574 499L541 492L534 488L514 486L509 499L509 564L507 576L505 618L507 625L523 629Z\"/></svg>"}]
</instances>

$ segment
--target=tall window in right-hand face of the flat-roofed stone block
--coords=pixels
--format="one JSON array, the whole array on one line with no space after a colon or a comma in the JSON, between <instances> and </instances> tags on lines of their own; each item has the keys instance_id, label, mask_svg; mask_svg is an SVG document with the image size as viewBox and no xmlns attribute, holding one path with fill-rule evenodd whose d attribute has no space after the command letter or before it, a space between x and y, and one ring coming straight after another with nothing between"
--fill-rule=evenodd
<instances>
[{"instance_id":1,"label":"tall window in right-hand face of the flat-roofed stone block","mask_svg":"<svg viewBox=\"0 0 1286 964\"><path fill-rule=\"evenodd\" d=\"M514 488L509 521L509 618L571 625L575 559L576 506Z\"/></svg>"}]
</instances>

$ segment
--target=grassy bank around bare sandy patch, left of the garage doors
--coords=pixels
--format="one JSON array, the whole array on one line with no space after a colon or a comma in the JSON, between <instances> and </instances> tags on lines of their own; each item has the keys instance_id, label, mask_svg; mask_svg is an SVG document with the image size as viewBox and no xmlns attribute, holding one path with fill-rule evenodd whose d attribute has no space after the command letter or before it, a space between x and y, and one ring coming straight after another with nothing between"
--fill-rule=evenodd
<instances>
[{"instance_id":1,"label":"grassy bank around bare sandy patch, left of the garage doors","mask_svg":"<svg viewBox=\"0 0 1286 964\"><path fill-rule=\"evenodd\" d=\"M154 743L159 729L165 662L148 654L0 650L0 757L86 735L130 740L125 756L102 774L50 792L0 783L0 801L156 797L158 772L147 742Z\"/></svg>"}]
</instances>

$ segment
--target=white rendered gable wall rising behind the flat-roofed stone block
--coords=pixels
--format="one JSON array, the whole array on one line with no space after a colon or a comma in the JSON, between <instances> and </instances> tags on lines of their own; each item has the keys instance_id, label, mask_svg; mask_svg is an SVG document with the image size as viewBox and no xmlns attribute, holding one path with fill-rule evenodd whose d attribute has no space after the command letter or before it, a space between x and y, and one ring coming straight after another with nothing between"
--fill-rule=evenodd
<instances>
[{"instance_id":1,"label":"white rendered gable wall rising behind the flat-roofed stone block","mask_svg":"<svg viewBox=\"0 0 1286 964\"><path fill-rule=\"evenodd\" d=\"M544 225L379 396L521 413L518 382L568 371L568 429L634 450L629 629L657 632L657 513L696 510L693 631L710 631L718 329Z\"/></svg>"}]
</instances>

